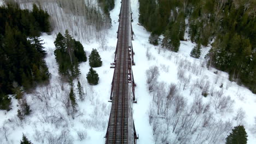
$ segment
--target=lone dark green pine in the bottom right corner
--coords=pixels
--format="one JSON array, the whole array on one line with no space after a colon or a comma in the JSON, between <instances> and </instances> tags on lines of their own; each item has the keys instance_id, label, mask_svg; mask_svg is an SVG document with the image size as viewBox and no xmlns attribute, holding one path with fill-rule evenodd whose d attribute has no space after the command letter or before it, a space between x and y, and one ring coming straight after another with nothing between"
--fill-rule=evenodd
<instances>
[{"instance_id":1,"label":"lone dark green pine in the bottom right corner","mask_svg":"<svg viewBox=\"0 0 256 144\"><path fill-rule=\"evenodd\" d=\"M226 144L246 144L247 137L248 136L243 125L238 125L232 129L232 133L226 137Z\"/></svg>"}]
</instances>

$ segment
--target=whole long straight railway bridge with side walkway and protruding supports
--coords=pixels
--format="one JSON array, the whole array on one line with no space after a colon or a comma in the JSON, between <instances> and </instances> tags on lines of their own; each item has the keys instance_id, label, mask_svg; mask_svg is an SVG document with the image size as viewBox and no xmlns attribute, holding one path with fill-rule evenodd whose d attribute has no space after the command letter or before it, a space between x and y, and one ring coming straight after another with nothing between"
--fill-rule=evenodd
<instances>
[{"instance_id":1,"label":"whole long straight railway bridge with side walkway and protruding supports","mask_svg":"<svg viewBox=\"0 0 256 144\"><path fill-rule=\"evenodd\" d=\"M121 1L119 14L118 41L115 50L114 68L110 102L112 107L106 133L106 144L136 144L138 136L132 117L132 104L135 99L135 82L133 80L132 65L132 13L130 0Z\"/></svg>"}]
</instances>

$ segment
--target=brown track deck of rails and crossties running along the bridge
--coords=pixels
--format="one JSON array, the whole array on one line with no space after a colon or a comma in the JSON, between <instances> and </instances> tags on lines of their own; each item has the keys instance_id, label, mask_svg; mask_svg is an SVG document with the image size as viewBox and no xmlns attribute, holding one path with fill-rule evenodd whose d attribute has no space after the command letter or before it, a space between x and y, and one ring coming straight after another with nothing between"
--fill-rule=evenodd
<instances>
[{"instance_id":1,"label":"brown track deck of rails and crossties running along the bridge","mask_svg":"<svg viewBox=\"0 0 256 144\"><path fill-rule=\"evenodd\" d=\"M123 0L120 10L118 43L113 76L112 107L106 143L131 143L129 140L129 0Z\"/></svg>"}]
</instances>

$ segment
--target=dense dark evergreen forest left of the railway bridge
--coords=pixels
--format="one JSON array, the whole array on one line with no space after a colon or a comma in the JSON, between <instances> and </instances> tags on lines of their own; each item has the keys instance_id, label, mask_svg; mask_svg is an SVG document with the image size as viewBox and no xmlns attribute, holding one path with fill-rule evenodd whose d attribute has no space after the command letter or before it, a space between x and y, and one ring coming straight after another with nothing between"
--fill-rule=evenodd
<instances>
[{"instance_id":1,"label":"dense dark evergreen forest left of the railway bridge","mask_svg":"<svg viewBox=\"0 0 256 144\"><path fill-rule=\"evenodd\" d=\"M49 79L46 53L37 37L50 32L48 18L37 5L32 11L10 4L0 7L0 109L10 109L8 94Z\"/></svg>"}]
</instances>

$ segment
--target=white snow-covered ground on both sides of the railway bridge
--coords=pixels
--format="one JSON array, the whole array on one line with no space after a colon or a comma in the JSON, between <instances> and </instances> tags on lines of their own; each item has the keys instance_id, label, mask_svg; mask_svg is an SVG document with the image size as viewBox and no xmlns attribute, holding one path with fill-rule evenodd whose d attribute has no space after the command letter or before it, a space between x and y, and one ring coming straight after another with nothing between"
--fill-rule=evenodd
<instances>
[{"instance_id":1,"label":"white snow-covered ground on both sides of the railway bridge","mask_svg":"<svg viewBox=\"0 0 256 144\"><path fill-rule=\"evenodd\" d=\"M248 134L248 143L256 143L256 134L253 133L252 128L256 127L254 124L254 117L256 116L255 103L256 95L249 91L247 88L236 85L235 82L228 81L228 74L218 71L218 75L214 74L216 69L211 68L208 70L201 65L205 65L203 56L200 59L191 58L189 56L190 51L194 45L190 41L182 41L181 47L178 53L173 53L168 50L161 49L159 46L153 46L148 43L148 37L150 35L142 26L138 25L138 0L131 1L131 8L133 12L132 28L135 32L135 40L133 43L133 50L135 51L135 63L132 67L133 75L137 87L135 94L137 97L137 104L133 104L133 118L135 121L135 128L139 135L138 143L154 143L153 130L149 124L148 112L149 106L152 103L152 93L149 93L146 82L146 70L150 66L156 65L160 70L160 76L158 81L165 83L165 86L169 86L170 83L177 83L178 69L185 69L185 74L191 75L191 82L183 91L183 86L179 89L185 98L188 99L188 103L193 101L197 92L200 89L195 88L195 91L190 95L190 87L200 77L208 79L210 85L220 91L222 88L219 86L223 83L224 95L230 95L234 100L234 110L229 113L215 112L214 117L223 119L226 121L236 115L236 111L242 107L246 112L245 128ZM59 135L61 131L66 131L67 135L70 135L71 140L74 143L104 143L104 135L106 134L107 123L110 112L110 83L112 82L113 71L110 69L110 63L114 60L114 51L117 44L117 30L118 30L118 15L120 11L120 0L115 1L115 8L110 11L112 18L112 27L109 29L108 35L106 35L106 46L102 49L101 44L96 41L90 41L90 43L84 43L86 55L89 56L92 49L97 49L101 55L103 65L100 68L95 68L100 81L97 86L90 86L87 84L86 74L89 71L89 63L84 62L80 64L80 82L86 91L85 101L78 100L78 112L74 119L71 116L67 116L65 107L63 107L63 98L69 92L69 86L67 83L61 83L59 80L58 68L54 56L54 40L53 35L43 34L42 38L45 42L45 50L48 55L45 58L48 65L49 72L51 73L50 86L38 87L30 94L26 94L27 103L31 106L32 114L20 122L17 118L18 101L12 99L12 110L9 112L0 111L0 143L19 143L24 133L29 140L34 144L48 143L50 135ZM209 47L204 47L202 55L206 55ZM146 55L148 51L148 56ZM196 65L197 74L192 73L182 62ZM218 79L217 79L218 77ZM74 83L77 86L77 82ZM62 90L62 87L64 88ZM46 95L43 101L38 100L38 95ZM211 96L203 98L206 103L211 100ZM213 109L213 108L212 108ZM232 121L232 126L236 126L235 121ZM4 133L6 131L6 133ZM84 131L87 133L85 140L78 140L77 131ZM5 140L5 135L8 141Z\"/></svg>"}]
</instances>

